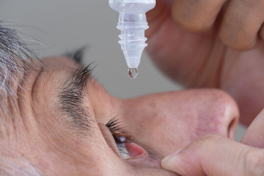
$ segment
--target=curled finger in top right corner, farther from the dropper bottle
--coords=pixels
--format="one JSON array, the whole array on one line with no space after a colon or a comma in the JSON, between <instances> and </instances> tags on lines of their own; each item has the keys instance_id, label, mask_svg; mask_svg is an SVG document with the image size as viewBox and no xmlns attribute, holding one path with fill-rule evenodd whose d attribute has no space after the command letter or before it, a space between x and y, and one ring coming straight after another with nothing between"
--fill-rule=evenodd
<instances>
[{"instance_id":1,"label":"curled finger in top right corner, farther from the dropper bottle","mask_svg":"<svg viewBox=\"0 0 264 176\"><path fill-rule=\"evenodd\" d=\"M258 41L264 22L264 0L230 0L220 26L222 42L232 48L246 50Z\"/></svg>"}]
</instances>

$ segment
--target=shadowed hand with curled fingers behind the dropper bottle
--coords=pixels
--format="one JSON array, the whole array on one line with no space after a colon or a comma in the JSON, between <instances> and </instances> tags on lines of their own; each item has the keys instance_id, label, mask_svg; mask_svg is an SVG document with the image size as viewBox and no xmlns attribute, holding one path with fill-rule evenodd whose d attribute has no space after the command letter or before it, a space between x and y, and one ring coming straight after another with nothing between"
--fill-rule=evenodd
<instances>
[{"instance_id":1,"label":"shadowed hand with curled fingers behind the dropper bottle","mask_svg":"<svg viewBox=\"0 0 264 176\"><path fill-rule=\"evenodd\" d=\"M186 87L224 89L249 125L264 107L264 0L156 3L146 30L154 63Z\"/></svg>"}]
</instances>

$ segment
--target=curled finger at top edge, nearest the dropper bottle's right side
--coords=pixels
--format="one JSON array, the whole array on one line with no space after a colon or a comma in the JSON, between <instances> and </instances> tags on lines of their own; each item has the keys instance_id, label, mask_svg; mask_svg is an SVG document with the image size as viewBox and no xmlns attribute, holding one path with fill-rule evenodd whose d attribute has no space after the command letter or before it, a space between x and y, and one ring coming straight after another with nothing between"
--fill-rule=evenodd
<instances>
[{"instance_id":1,"label":"curled finger at top edge, nearest the dropper bottle's right side","mask_svg":"<svg viewBox=\"0 0 264 176\"><path fill-rule=\"evenodd\" d=\"M213 25L224 2L225 0L175 0L171 14L185 30L201 32Z\"/></svg>"}]
</instances>

